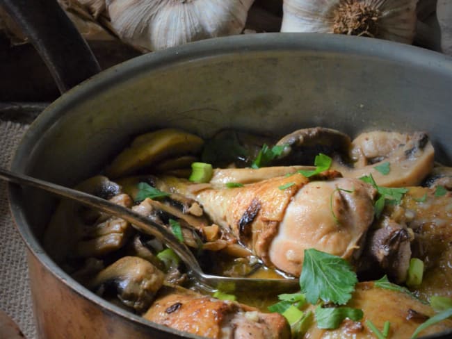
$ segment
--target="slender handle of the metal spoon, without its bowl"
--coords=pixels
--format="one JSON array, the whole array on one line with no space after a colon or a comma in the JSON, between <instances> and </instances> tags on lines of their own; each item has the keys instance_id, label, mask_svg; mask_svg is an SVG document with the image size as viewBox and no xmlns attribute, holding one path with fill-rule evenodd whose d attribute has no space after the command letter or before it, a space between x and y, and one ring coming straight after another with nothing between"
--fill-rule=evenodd
<instances>
[{"instance_id":1,"label":"slender handle of the metal spoon, without its bowl","mask_svg":"<svg viewBox=\"0 0 452 339\"><path fill-rule=\"evenodd\" d=\"M43 181L40 179L35 179L31 176L24 174L18 174L8 171L0 167L0 179L5 179L12 183L18 183L20 185L29 185L35 188L40 188L51 192L54 195L59 195L61 197L69 198L72 200L79 201L79 203L90 206L92 208L97 208L102 210L102 212L115 215L115 217L120 217L127 222L130 222L139 231L144 233L154 235L156 238L161 240L164 244L168 245L173 249L176 254L181 258L190 270L193 270L197 274L202 275L202 270L200 264L197 262L193 253L186 247L186 245L180 242L175 235L173 235L165 226L154 222L148 217L136 213L130 208L126 208L117 204L113 204L111 201L96 197L95 195L90 195L79 190L73 190L72 188L67 188L65 186L57 185L55 183L49 183L48 181Z\"/></svg>"}]
</instances>

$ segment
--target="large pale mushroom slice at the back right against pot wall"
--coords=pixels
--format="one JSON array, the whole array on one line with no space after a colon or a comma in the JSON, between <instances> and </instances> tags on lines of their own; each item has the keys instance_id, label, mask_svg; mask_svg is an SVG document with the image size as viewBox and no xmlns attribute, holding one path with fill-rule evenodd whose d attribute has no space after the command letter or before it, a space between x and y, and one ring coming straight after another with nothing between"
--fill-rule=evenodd
<instances>
[{"instance_id":1,"label":"large pale mushroom slice at the back right against pot wall","mask_svg":"<svg viewBox=\"0 0 452 339\"><path fill-rule=\"evenodd\" d=\"M380 186L404 187L419 185L430 173L435 151L426 133L373 131L353 140L350 156L353 167L335 160L332 169L350 178L371 174ZM378 170L380 166L389 173Z\"/></svg>"}]
</instances>

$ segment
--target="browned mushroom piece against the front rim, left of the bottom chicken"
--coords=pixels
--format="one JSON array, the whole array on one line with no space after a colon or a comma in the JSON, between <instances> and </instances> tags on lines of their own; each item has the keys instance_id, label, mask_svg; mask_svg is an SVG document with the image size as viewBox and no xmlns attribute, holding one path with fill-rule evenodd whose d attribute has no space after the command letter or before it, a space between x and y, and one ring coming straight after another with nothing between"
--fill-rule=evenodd
<instances>
[{"instance_id":1,"label":"browned mushroom piece against the front rim, left of the bottom chicken","mask_svg":"<svg viewBox=\"0 0 452 339\"><path fill-rule=\"evenodd\" d=\"M118 298L138 313L149 308L163 285L165 274L152 263L136 256L124 256L95 276L88 288L115 288Z\"/></svg>"}]
</instances>

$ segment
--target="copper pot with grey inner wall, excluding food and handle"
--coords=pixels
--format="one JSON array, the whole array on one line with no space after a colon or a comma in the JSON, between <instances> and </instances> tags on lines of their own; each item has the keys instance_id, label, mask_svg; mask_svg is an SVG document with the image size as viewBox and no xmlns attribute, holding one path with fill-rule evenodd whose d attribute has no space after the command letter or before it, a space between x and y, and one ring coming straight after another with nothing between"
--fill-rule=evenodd
<instances>
[{"instance_id":1,"label":"copper pot with grey inner wall, excluding food and handle","mask_svg":"<svg viewBox=\"0 0 452 339\"><path fill-rule=\"evenodd\" d=\"M129 137L174 126L282 135L327 126L428 131L451 164L452 59L417 47L338 35L259 34L149 53L63 94L26 132L12 169L63 185L97 173ZM55 199L10 185L29 253L39 338L194 338L97 297L41 245ZM55 244L58 246L58 244Z\"/></svg>"}]
</instances>

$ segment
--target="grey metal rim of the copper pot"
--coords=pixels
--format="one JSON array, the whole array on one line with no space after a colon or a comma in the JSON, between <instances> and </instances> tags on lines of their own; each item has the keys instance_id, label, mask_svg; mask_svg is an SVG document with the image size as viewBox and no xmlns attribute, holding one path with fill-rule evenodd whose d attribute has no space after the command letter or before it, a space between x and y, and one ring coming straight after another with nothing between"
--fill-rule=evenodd
<instances>
[{"instance_id":1,"label":"grey metal rim of the copper pot","mask_svg":"<svg viewBox=\"0 0 452 339\"><path fill-rule=\"evenodd\" d=\"M379 60L388 60L392 63L411 64L415 67L428 69L429 72L449 73L452 79L452 58L442 53L421 49L412 45L379 40L376 38L363 38L346 35L333 35L328 33L258 33L249 35L233 35L224 38L211 38L197 42L190 42L179 47L172 47L162 51L143 54L131 60L124 61L111 68L102 71L74 88L65 92L61 97L51 103L37 119L29 126L22 138L11 163L14 172L27 174L27 154L33 149L35 140L38 140L49 127L58 121L60 116L70 111L70 108L78 101L86 97L92 97L97 92L108 91L111 85L127 81L143 72L155 72L181 63L189 63L193 60L214 59L219 56L232 56L236 53L246 55L248 53L264 52L290 52L310 51L313 53L340 53L350 56L364 56ZM28 150L28 151L27 151ZM177 331L167 326L159 325L129 311L115 306L101 297L95 295L87 288L81 286L72 277L65 273L46 254L40 241L33 235L31 226L27 222L26 215L21 208L20 190L14 184L8 184L8 198L13 220L19 230L26 247L40 263L51 272L58 280L65 283L81 297L88 299L102 307L103 311L115 313L126 317L132 322L151 326L184 338L200 338L191 333ZM431 338L437 338L432 336Z\"/></svg>"}]
</instances>

